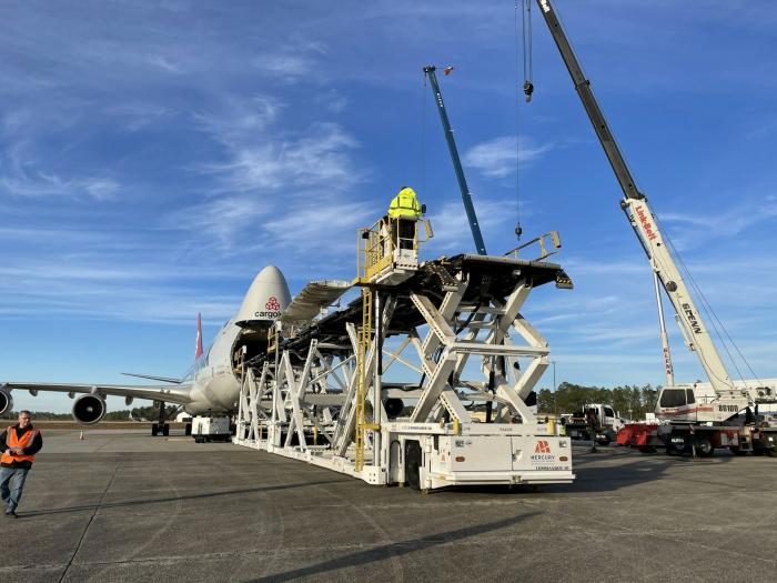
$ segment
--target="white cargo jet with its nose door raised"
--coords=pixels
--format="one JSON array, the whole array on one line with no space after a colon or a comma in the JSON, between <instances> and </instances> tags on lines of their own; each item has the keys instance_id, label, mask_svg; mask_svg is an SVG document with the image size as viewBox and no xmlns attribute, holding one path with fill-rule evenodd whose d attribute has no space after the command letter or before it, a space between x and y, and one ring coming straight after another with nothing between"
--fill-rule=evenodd
<instances>
[{"instance_id":1,"label":"white cargo jet with its nose door raised","mask_svg":"<svg viewBox=\"0 0 777 583\"><path fill-rule=\"evenodd\" d=\"M0 382L0 413L13 409L11 392L16 389L27 390L33 396L39 391L63 392L71 399L81 394L73 402L72 415L83 424L97 423L104 416L108 395L123 396L127 405L133 399L174 403L191 415L232 414L238 410L241 358L250 359L266 350L268 329L290 302L291 294L283 273L268 265L256 274L240 310L224 324L206 352L202 350L202 324L198 316L195 360L184 378L125 373L163 383L159 385ZM155 424L153 433L157 431Z\"/></svg>"}]
</instances>

